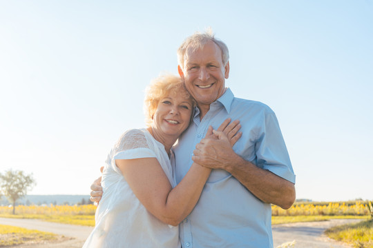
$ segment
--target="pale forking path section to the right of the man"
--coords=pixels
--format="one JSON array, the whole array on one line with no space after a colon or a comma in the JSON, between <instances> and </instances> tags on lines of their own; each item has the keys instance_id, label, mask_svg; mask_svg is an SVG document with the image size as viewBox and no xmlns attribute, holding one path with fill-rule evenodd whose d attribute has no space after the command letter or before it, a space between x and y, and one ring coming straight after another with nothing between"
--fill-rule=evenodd
<instances>
[{"instance_id":1,"label":"pale forking path section to the right of the man","mask_svg":"<svg viewBox=\"0 0 373 248\"><path fill-rule=\"evenodd\" d=\"M341 242L327 238L323 234L325 229L336 225L356 223L361 220L328 220L310 223L291 223L274 225L272 233L274 236L274 247L285 242L296 240L295 248L346 248L350 247Z\"/></svg>"}]
</instances>

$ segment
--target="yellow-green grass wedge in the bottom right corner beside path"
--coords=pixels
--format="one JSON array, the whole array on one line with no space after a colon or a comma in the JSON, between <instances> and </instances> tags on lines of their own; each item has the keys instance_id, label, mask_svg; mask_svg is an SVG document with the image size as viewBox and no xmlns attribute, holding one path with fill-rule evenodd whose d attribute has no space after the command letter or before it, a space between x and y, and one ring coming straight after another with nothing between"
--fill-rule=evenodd
<instances>
[{"instance_id":1,"label":"yellow-green grass wedge in the bottom right corner beside path","mask_svg":"<svg viewBox=\"0 0 373 248\"><path fill-rule=\"evenodd\" d=\"M332 227L325 231L329 238L347 242L356 248L373 248L373 220Z\"/></svg>"}]
</instances>

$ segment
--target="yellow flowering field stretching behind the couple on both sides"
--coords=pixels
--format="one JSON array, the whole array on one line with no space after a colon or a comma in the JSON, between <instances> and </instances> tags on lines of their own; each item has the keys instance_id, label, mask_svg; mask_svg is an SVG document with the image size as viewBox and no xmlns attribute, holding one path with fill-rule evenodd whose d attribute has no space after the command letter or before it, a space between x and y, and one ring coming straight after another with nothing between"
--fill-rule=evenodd
<instances>
[{"instance_id":1,"label":"yellow flowering field stretching behind the couple on both sides","mask_svg":"<svg viewBox=\"0 0 373 248\"><path fill-rule=\"evenodd\" d=\"M11 207L0 207L0 217L39 218L42 220L74 225L95 225L94 205L49 205L16 207L16 215ZM272 223L327 220L329 218L368 218L367 202L346 203L295 203L287 210L272 206Z\"/></svg>"}]
</instances>

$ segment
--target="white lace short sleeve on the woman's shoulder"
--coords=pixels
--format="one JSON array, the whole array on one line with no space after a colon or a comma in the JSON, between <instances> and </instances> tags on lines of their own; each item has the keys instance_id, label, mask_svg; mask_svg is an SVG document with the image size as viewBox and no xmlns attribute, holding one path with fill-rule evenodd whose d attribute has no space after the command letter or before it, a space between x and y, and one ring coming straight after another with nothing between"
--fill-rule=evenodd
<instances>
[{"instance_id":1,"label":"white lace short sleeve on the woman's shoulder","mask_svg":"<svg viewBox=\"0 0 373 248\"><path fill-rule=\"evenodd\" d=\"M113 149L114 159L153 158L155 153L149 147L142 130L128 130L119 138Z\"/></svg>"}]
</instances>

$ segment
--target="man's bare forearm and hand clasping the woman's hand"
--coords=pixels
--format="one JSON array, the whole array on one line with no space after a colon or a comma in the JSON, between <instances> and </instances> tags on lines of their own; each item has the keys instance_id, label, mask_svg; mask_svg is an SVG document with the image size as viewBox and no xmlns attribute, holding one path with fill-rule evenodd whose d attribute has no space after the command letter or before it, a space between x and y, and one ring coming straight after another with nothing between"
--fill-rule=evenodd
<instances>
[{"instance_id":1,"label":"man's bare forearm and hand clasping the woman's hand","mask_svg":"<svg viewBox=\"0 0 373 248\"><path fill-rule=\"evenodd\" d=\"M265 203L288 209L295 200L294 183L245 161L236 154L227 137L220 132L218 139L204 138L196 145L193 161L211 169L224 169Z\"/></svg>"}]
</instances>

